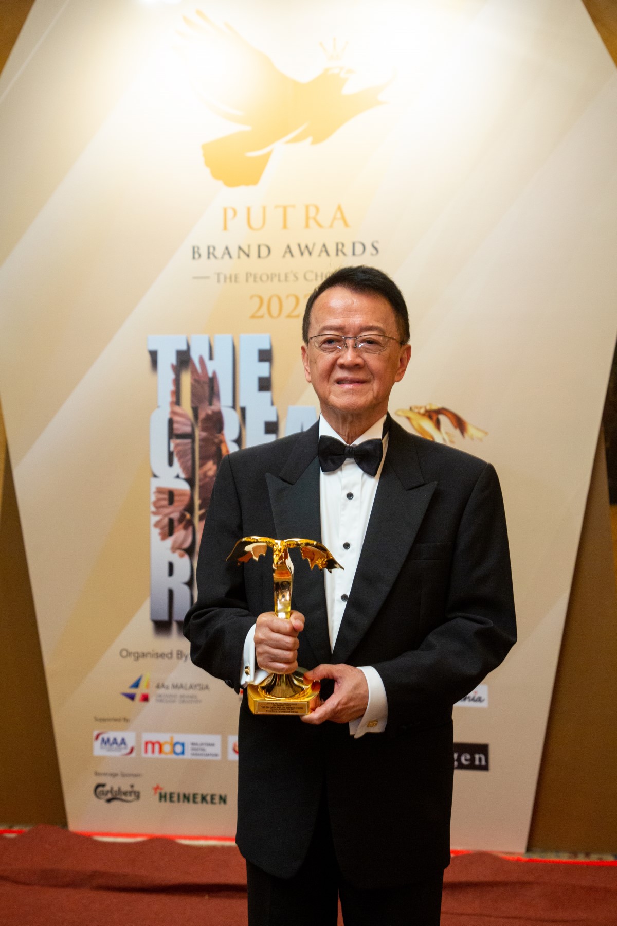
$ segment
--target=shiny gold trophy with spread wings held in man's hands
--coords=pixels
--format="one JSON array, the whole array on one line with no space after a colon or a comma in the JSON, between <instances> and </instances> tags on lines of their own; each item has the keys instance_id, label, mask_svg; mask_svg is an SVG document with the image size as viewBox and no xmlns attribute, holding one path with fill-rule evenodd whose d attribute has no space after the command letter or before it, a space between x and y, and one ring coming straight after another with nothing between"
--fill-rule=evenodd
<instances>
[{"instance_id":1,"label":"shiny gold trophy with spread wings held in man's hands","mask_svg":"<svg viewBox=\"0 0 617 926\"><path fill-rule=\"evenodd\" d=\"M290 619L291 586L293 584L293 563L290 550L299 547L302 558L308 560L313 569L342 569L323 544L315 540L273 540L272 537L242 537L234 546L228 559L237 563L248 563L251 559L265 556L268 546L272 550L274 572L274 611L278 618ZM309 714L319 699L320 682L304 680L302 669L287 675L271 672L258 685L246 686L249 707L253 714Z\"/></svg>"}]
</instances>

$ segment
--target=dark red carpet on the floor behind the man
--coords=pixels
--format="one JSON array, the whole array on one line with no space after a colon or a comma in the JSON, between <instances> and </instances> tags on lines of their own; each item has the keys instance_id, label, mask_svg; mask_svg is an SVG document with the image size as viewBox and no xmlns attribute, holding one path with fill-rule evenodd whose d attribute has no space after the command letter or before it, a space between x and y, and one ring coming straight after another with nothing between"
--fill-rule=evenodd
<instances>
[{"instance_id":1,"label":"dark red carpet on the floor behind the man","mask_svg":"<svg viewBox=\"0 0 617 926\"><path fill-rule=\"evenodd\" d=\"M244 862L235 847L167 839L100 843L38 826L0 839L3 926L246 926ZM442 926L617 926L617 867L452 859ZM376 924L379 926L379 924Z\"/></svg>"}]
</instances>

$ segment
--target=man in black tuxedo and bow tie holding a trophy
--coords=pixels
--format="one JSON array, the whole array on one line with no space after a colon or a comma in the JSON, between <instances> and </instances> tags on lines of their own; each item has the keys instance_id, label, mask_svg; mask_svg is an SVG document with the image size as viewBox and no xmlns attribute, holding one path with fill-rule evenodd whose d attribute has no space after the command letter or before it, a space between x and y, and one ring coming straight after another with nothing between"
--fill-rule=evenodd
<instances>
[{"instance_id":1,"label":"man in black tuxedo and bow tie holding a trophy","mask_svg":"<svg viewBox=\"0 0 617 926\"><path fill-rule=\"evenodd\" d=\"M337 270L309 298L302 363L321 416L225 457L205 521L191 659L239 691L302 666L305 717L242 700L237 842L250 926L438 926L450 862L452 705L516 638L500 485L489 464L406 432L389 393L411 355L400 290ZM297 564L291 619L242 536L307 537L343 569Z\"/></svg>"}]
</instances>

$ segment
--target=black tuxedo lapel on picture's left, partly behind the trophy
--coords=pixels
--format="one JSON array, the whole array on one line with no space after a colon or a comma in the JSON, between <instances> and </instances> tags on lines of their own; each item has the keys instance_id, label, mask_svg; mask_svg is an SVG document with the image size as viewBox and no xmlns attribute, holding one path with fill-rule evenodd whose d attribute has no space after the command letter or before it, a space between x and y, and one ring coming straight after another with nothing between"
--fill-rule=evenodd
<instances>
[{"instance_id":1,"label":"black tuxedo lapel on picture's left, partly behind the trophy","mask_svg":"<svg viewBox=\"0 0 617 926\"><path fill-rule=\"evenodd\" d=\"M280 476L266 473L277 537L304 537L321 542L319 513L318 422L298 438ZM294 557L293 606L305 618L306 636L317 662L330 662L324 574Z\"/></svg>"}]
</instances>

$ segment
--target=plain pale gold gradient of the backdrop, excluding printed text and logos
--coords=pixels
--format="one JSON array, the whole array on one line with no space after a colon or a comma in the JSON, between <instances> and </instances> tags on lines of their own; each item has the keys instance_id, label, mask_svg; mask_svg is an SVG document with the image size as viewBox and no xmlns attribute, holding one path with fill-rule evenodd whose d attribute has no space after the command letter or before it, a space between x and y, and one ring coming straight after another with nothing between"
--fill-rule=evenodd
<instances>
[{"instance_id":1,"label":"plain pale gold gradient of the backdrop, excluding printed text and logos","mask_svg":"<svg viewBox=\"0 0 617 926\"><path fill-rule=\"evenodd\" d=\"M270 6L207 12L298 80L324 67L319 43L333 35L349 42L358 89L387 80L393 63L396 79L386 106L323 144L276 149L257 187L227 189L201 160L221 120L192 93L173 47L194 4L38 0L0 80L10 139L0 394L69 823L104 830L112 817L93 807L102 763L90 757L92 716L120 712L117 692L142 670L118 665L120 646L154 642L146 337L270 333L284 423L289 404L313 402L300 322L250 320L250 296L299 287L194 281L191 245L226 243L223 206L240 216L246 205L272 214L278 203L318 203L331 214L341 203L345 237L379 240L376 262L410 303L413 362L392 408L435 401L489 432L465 449L500 473L521 642L488 680L487 711L455 711L459 740L490 743L491 771L456 776L453 843L521 850L615 337L614 66L574 0L390 3L378 13L341 2L278 19ZM273 225L228 236L282 252L288 240L343 234ZM177 643L172 635L159 648ZM154 704L127 716L138 731L232 732L236 707L213 680L205 716L183 708L171 722ZM235 790L225 758L180 765L144 760L143 790L157 775L181 790L180 771L187 787L207 774ZM154 819L151 803L122 808L133 832L204 832L189 814ZM233 807L218 822L216 834L232 833Z\"/></svg>"}]
</instances>

